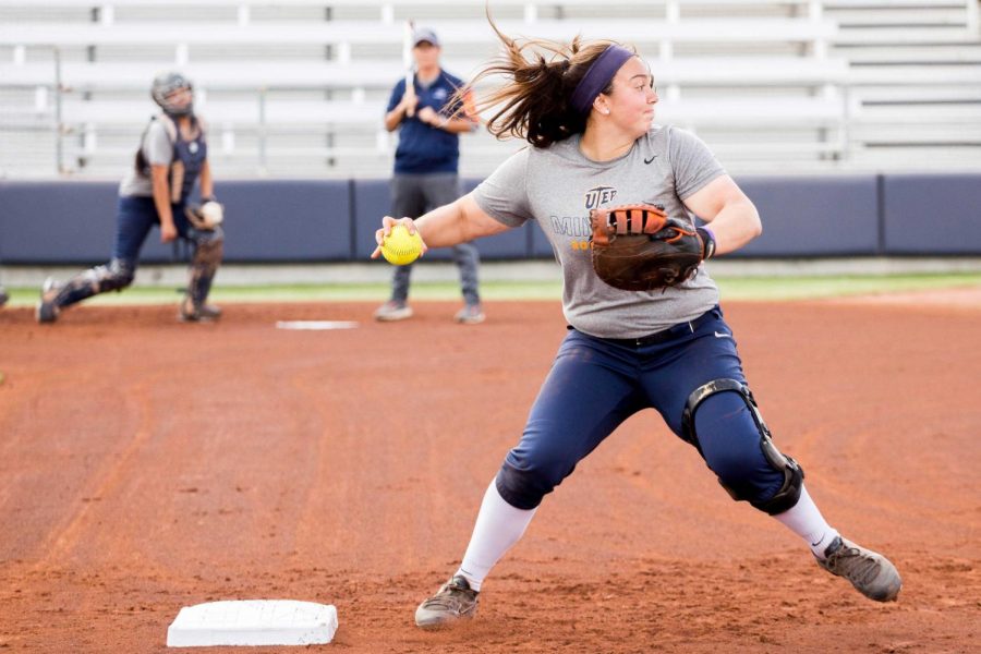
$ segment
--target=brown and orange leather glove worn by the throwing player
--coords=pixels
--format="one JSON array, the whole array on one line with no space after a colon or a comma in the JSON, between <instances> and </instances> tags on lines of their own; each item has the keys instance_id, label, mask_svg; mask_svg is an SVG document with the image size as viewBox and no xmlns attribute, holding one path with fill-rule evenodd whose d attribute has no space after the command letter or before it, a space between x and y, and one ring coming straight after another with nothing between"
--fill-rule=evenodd
<instances>
[{"instance_id":1,"label":"brown and orange leather glove worn by the throwing player","mask_svg":"<svg viewBox=\"0 0 981 654\"><path fill-rule=\"evenodd\" d=\"M694 276L715 252L705 229L668 218L664 207L622 205L590 211L593 269L625 291L655 291Z\"/></svg>"}]
</instances>

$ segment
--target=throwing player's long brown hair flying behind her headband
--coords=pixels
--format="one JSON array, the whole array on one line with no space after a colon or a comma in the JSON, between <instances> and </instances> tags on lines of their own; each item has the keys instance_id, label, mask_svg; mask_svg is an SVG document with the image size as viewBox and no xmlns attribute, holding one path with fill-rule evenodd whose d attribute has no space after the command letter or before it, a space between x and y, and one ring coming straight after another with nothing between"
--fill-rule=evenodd
<instances>
[{"instance_id":1,"label":"throwing player's long brown hair flying behind her headband","mask_svg":"<svg viewBox=\"0 0 981 654\"><path fill-rule=\"evenodd\" d=\"M622 44L595 40L583 45L578 35L569 44L544 39L518 41L498 29L489 11L487 21L504 45L504 52L477 72L463 90L469 93L488 77L505 77L504 85L473 102L476 111L504 105L487 121L487 130L497 138L523 138L535 147L547 147L585 131L589 113L581 114L572 108L572 93L606 48ZM525 51L531 53L531 59ZM611 90L613 81L603 93Z\"/></svg>"}]
</instances>

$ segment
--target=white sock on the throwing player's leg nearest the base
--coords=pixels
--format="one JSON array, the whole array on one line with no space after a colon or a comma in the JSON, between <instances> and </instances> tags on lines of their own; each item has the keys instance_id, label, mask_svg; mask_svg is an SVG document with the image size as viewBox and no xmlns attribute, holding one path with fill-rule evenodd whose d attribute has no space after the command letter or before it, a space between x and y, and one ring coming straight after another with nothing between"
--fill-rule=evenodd
<instances>
[{"instance_id":1,"label":"white sock on the throwing player's leg nearest the base","mask_svg":"<svg viewBox=\"0 0 981 654\"><path fill-rule=\"evenodd\" d=\"M481 502L481 512L473 525L463 562L456 574L465 577L470 588L480 591L491 568L521 538L536 510L516 509L505 501L497 492L497 484L492 481Z\"/></svg>"}]
</instances>

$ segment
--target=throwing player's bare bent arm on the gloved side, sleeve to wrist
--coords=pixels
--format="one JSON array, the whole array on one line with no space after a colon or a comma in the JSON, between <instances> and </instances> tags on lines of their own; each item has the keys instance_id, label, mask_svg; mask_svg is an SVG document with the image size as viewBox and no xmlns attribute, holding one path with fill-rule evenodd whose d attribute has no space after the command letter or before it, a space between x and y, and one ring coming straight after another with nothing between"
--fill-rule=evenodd
<instances>
[{"instance_id":1,"label":"throwing player's bare bent arm on the gloved side, sleeve to wrist","mask_svg":"<svg viewBox=\"0 0 981 654\"><path fill-rule=\"evenodd\" d=\"M761 233L763 223L752 201L727 174L719 175L685 198L694 215L715 235L715 254L739 250Z\"/></svg>"}]
</instances>

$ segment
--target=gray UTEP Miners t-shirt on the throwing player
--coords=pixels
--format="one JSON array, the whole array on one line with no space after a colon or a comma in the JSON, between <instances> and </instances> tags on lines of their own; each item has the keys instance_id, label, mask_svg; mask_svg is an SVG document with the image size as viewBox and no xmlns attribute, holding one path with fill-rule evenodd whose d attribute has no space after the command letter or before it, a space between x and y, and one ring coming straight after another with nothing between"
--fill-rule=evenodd
<instances>
[{"instance_id":1,"label":"gray UTEP Miners t-shirt on the throwing player","mask_svg":"<svg viewBox=\"0 0 981 654\"><path fill-rule=\"evenodd\" d=\"M718 303L718 289L698 275L665 291L621 291L601 280L590 254L590 209L659 204L690 219L682 201L725 174L704 143L673 126L655 125L630 152L593 161L580 135L546 148L526 147L474 191L477 205L509 227L536 220L562 267L562 310L576 329L601 338L638 338L691 320Z\"/></svg>"}]
</instances>

